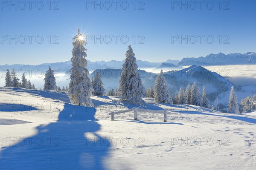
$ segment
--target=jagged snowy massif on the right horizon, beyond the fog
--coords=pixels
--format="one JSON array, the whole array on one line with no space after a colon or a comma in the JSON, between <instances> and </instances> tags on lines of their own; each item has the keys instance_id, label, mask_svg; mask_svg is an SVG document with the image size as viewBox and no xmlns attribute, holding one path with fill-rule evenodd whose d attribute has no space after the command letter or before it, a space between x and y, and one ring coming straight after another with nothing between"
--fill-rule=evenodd
<instances>
[{"instance_id":1,"label":"jagged snowy massif on the right horizon, beyond the fog","mask_svg":"<svg viewBox=\"0 0 256 170\"><path fill-rule=\"evenodd\" d=\"M183 58L178 66L185 65L249 65L256 64L256 53L247 52L246 54L231 53L231 54L209 54L206 57L198 58Z\"/></svg>"}]
</instances>

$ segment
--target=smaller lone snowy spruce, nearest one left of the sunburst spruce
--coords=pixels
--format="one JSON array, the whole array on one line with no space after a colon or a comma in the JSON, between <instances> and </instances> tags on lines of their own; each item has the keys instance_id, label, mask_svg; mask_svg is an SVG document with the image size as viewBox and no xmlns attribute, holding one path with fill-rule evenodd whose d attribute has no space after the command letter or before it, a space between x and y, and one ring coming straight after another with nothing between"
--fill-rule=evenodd
<instances>
[{"instance_id":1,"label":"smaller lone snowy spruce, nearest one left of the sunburst spruce","mask_svg":"<svg viewBox=\"0 0 256 170\"><path fill-rule=\"evenodd\" d=\"M49 67L44 77L44 90L55 90L56 79L54 77L54 71Z\"/></svg>"}]
</instances>

